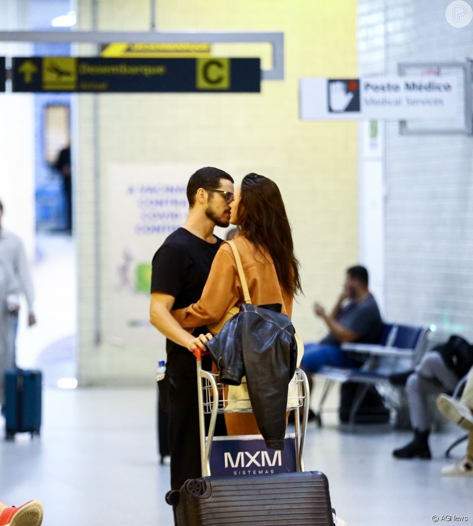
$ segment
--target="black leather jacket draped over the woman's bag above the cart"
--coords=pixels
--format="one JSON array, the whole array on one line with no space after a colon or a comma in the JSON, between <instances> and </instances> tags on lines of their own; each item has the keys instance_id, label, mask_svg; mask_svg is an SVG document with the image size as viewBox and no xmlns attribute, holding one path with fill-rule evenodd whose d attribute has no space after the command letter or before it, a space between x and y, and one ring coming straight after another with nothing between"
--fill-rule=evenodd
<instances>
[{"instance_id":1,"label":"black leather jacket draped over the woman's bag above the cart","mask_svg":"<svg viewBox=\"0 0 473 526\"><path fill-rule=\"evenodd\" d=\"M297 361L290 319L269 308L243 304L207 347L220 370L220 381L238 386L246 375L251 406L266 446L284 449L287 388Z\"/></svg>"}]
</instances>

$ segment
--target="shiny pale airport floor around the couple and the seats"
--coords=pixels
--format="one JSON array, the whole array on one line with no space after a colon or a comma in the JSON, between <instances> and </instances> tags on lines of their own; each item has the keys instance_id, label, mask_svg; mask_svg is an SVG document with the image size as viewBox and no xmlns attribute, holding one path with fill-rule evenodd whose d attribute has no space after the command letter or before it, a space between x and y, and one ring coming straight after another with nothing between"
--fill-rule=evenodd
<instances>
[{"instance_id":1,"label":"shiny pale airport floor around the couple and the seats","mask_svg":"<svg viewBox=\"0 0 473 526\"><path fill-rule=\"evenodd\" d=\"M327 474L350 526L428 526L435 514L473 521L473 478L439 474L461 431L434 434L431 461L399 461L391 450L410 433L380 426L350 434L335 415L325 420L308 430L306 469ZM153 390L46 390L41 439L0 442L0 500L41 499L45 526L170 526L168 480L156 455Z\"/></svg>"}]
</instances>

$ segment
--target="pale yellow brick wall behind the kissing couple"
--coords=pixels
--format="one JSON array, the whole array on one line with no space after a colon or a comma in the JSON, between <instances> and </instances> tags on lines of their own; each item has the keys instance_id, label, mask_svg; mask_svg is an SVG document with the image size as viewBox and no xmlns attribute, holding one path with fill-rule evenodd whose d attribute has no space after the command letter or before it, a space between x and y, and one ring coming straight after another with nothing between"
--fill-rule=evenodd
<instances>
[{"instance_id":1,"label":"pale yellow brick wall behind the kissing couple","mask_svg":"<svg viewBox=\"0 0 473 526\"><path fill-rule=\"evenodd\" d=\"M78 4L79 24L89 28L90 1ZM159 0L156 22L165 31L284 32L284 81L263 82L261 94L100 95L98 102L101 178L110 163L185 161L197 169L208 159L232 167L237 180L256 171L277 182L302 269L305 296L294 321L305 340L324 332L311 304L331 307L343 270L358 257L357 125L301 122L298 79L356 76L355 7L355 0ZM100 0L98 24L146 30L149 1ZM94 343L93 108L91 96L78 98L79 379L133 383L152 377L159 340L119 352Z\"/></svg>"}]
</instances>

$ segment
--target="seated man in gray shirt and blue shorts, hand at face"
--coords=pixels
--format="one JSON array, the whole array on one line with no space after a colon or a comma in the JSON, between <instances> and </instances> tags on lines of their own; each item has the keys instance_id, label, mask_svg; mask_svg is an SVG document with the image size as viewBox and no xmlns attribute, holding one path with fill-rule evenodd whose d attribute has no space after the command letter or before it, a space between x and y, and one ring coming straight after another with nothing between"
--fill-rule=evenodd
<instances>
[{"instance_id":1,"label":"seated man in gray shirt and blue shorts, hand at face","mask_svg":"<svg viewBox=\"0 0 473 526\"><path fill-rule=\"evenodd\" d=\"M383 330L383 321L375 298L368 290L368 271L356 266L347 270L344 291L331 314L318 303L317 316L327 324L329 333L318 343L304 345L301 367L310 375L321 367L359 367L360 361L350 358L340 349L345 342L377 343Z\"/></svg>"}]
</instances>

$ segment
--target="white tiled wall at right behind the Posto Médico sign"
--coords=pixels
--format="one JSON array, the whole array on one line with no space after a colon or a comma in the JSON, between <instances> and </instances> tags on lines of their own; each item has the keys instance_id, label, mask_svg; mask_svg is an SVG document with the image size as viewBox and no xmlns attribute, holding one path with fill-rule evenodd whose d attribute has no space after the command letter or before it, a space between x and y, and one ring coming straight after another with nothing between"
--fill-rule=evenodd
<instances>
[{"instance_id":1,"label":"white tiled wall at right behind the Posto M\u00e9dico sign","mask_svg":"<svg viewBox=\"0 0 473 526\"><path fill-rule=\"evenodd\" d=\"M359 0L359 75L396 74L398 62L471 57L473 22L450 26L448 4ZM390 122L385 166L387 318L473 338L473 138L403 136Z\"/></svg>"}]
</instances>

